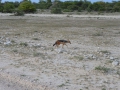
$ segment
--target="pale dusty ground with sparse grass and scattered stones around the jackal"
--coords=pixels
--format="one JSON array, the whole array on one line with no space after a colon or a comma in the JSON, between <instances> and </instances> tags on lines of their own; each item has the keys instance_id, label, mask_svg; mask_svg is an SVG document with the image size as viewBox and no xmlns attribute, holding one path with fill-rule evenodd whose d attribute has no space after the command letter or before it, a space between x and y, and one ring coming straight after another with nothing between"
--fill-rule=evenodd
<instances>
[{"instance_id":1,"label":"pale dusty ground with sparse grass and scattered stones around the jackal","mask_svg":"<svg viewBox=\"0 0 120 90\"><path fill-rule=\"evenodd\" d=\"M119 90L119 62L118 15L0 15L0 90Z\"/></svg>"}]
</instances>

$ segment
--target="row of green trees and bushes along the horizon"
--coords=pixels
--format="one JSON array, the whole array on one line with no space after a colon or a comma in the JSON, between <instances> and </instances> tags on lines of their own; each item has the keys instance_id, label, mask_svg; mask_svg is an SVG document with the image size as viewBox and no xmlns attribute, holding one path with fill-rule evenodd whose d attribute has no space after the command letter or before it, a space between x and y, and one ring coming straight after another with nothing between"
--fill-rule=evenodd
<instances>
[{"instance_id":1,"label":"row of green trees and bushes along the horizon","mask_svg":"<svg viewBox=\"0 0 120 90\"><path fill-rule=\"evenodd\" d=\"M59 1L59 0L40 0L38 3L31 2L30 0L23 0L21 2L1 2L0 0L0 12L13 13L35 13L37 9L49 9L51 13L63 13L63 12L120 12L120 1L103 2L97 1L91 3L87 0L79 1Z\"/></svg>"}]
</instances>

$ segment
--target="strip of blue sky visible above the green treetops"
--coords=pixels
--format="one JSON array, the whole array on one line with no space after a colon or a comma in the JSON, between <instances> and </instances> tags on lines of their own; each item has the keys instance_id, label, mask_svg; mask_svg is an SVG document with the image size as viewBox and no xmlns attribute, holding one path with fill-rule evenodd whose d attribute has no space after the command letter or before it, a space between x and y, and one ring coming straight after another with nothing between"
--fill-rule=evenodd
<instances>
[{"instance_id":1,"label":"strip of blue sky visible above the green treetops","mask_svg":"<svg viewBox=\"0 0 120 90\"><path fill-rule=\"evenodd\" d=\"M2 2L5 2L5 1L12 1L12 2L18 1L18 2L20 2L22 0L2 0ZM39 0L31 0L31 1L32 2L39 2ZM74 0L60 0L60 1L74 1ZM97 2L97 1L112 2L112 1L119 1L119 0L87 0L87 1L90 1L90 2Z\"/></svg>"}]
</instances>

